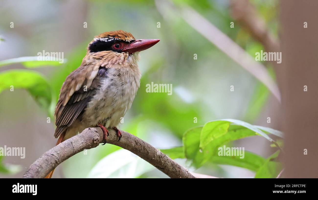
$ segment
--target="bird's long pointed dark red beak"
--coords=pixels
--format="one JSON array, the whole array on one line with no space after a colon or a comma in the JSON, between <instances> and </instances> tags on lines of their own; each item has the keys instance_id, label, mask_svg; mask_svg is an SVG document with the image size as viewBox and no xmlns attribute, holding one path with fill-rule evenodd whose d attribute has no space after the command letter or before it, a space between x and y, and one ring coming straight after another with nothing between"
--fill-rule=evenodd
<instances>
[{"instance_id":1,"label":"bird's long pointed dark red beak","mask_svg":"<svg viewBox=\"0 0 318 200\"><path fill-rule=\"evenodd\" d=\"M122 49L123 52L128 52L129 54L135 53L137 51L143 51L147 48L154 46L158 43L159 39L144 39L144 40L135 40L134 42L128 44Z\"/></svg>"}]
</instances>

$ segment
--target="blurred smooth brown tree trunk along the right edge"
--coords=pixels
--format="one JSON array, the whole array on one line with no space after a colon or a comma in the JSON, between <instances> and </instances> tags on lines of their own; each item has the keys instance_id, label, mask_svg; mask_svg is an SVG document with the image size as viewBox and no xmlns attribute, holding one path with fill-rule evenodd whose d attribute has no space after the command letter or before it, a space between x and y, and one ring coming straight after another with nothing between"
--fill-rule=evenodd
<instances>
[{"instance_id":1,"label":"blurred smooth brown tree trunk along the right edge","mask_svg":"<svg viewBox=\"0 0 318 200\"><path fill-rule=\"evenodd\" d=\"M317 178L318 1L281 0L280 11L282 63L276 70L286 138L283 177Z\"/></svg>"}]
</instances>

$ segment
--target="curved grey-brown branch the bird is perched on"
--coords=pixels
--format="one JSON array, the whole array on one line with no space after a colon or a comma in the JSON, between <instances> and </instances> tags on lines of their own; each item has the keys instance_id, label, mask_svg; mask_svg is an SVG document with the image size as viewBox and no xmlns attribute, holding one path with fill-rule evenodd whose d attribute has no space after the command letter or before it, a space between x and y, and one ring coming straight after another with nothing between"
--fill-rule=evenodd
<instances>
[{"instance_id":1,"label":"curved grey-brown branch the bird is perched on","mask_svg":"<svg viewBox=\"0 0 318 200\"><path fill-rule=\"evenodd\" d=\"M195 178L187 169L136 136L121 131L122 138L117 141L114 130L109 130L107 143L120 146L146 160L170 178ZM80 134L65 140L38 158L24 173L23 178L44 178L64 160L84 149L91 149L103 143L100 128L86 128Z\"/></svg>"}]
</instances>

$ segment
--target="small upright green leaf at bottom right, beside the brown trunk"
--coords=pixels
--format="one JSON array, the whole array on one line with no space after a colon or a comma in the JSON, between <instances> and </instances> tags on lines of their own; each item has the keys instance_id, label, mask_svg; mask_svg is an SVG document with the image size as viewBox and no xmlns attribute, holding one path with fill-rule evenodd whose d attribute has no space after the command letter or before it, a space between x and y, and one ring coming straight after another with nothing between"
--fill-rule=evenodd
<instances>
[{"instance_id":1,"label":"small upright green leaf at bottom right, beside the brown trunk","mask_svg":"<svg viewBox=\"0 0 318 200\"><path fill-rule=\"evenodd\" d=\"M255 178L276 178L278 176L282 170L281 163L275 161L279 153L280 151L278 150L266 159L265 163L256 172Z\"/></svg>"}]
</instances>

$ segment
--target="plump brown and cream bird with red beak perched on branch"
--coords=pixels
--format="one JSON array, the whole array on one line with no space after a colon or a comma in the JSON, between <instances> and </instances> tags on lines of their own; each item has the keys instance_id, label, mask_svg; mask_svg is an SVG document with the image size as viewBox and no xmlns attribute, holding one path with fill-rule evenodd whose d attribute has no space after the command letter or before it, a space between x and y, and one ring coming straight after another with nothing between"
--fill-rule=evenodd
<instances>
[{"instance_id":1,"label":"plump brown and cream bird with red beak perched on branch","mask_svg":"<svg viewBox=\"0 0 318 200\"><path fill-rule=\"evenodd\" d=\"M107 129L113 129L118 141L121 139L117 126L140 87L139 52L159 41L137 40L123 30L93 38L81 65L66 77L60 89L54 113L54 137L59 138L56 145L88 127L102 129L104 144ZM51 178L53 172L54 169L45 178Z\"/></svg>"}]
</instances>

